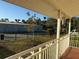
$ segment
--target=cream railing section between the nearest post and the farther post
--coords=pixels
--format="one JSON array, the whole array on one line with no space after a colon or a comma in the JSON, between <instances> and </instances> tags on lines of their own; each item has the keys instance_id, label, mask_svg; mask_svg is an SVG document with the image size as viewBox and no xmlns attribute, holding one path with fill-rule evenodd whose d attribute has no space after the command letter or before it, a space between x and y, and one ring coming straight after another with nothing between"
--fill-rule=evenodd
<instances>
[{"instance_id":1,"label":"cream railing section between the nearest post and the farther post","mask_svg":"<svg viewBox=\"0 0 79 59\"><path fill-rule=\"evenodd\" d=\"M70 40L69 35L65 35L65 36L60 38L60 41L59 41L59 57L61 57L64 54L64 52L66 51L66 49L69 47L69 40Z\"/></svg>"}]
</instances>

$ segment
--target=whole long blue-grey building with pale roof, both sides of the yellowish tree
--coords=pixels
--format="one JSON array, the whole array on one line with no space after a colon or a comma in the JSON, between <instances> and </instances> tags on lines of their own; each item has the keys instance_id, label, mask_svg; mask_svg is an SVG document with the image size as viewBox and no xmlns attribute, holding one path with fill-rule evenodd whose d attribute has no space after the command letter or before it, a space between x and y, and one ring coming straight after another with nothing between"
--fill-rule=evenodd
<instances>
[{"instance_id":1,"label":"whole long blue-grey building with pale roof, both sides of the yellowish tree","mask_svg":"<svg viewBox=\"0 0 79 59\"><path fill-rule=\"evenodd\" d=\"M30 32L42 31L43 28L40 25L0 22L0 33L26 33L29 30L31 30Z\"/></svg>"}]
</instances>

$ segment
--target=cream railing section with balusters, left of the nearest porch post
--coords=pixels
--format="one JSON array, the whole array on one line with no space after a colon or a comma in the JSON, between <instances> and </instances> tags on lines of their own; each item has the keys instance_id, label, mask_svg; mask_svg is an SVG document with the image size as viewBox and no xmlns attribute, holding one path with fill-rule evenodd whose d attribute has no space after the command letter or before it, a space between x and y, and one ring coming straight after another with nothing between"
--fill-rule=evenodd
<instances>
[{"instance_id":1,"label":"cream railing section with balusters, left of the nearest porch post","mask_svg":"<svg viewBox=\"0 0 79 59\"><path fill-rule=\"evenodd\" d=\"M52 40L5 59L55 59L56 41Z\"/></svg>"}]
</instances>

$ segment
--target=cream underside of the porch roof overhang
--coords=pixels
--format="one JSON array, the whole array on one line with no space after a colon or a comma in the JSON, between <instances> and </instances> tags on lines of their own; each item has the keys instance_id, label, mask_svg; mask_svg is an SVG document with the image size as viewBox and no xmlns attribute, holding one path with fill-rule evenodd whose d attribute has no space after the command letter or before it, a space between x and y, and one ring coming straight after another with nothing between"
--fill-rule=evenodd
<instances>
[{"instance_id":1,"label":"cream underside of the porch roof overhang","mask_svg":"<svg viewBox=\"0 0 79 59\"><path fill-rule=\"evenodd\" d=\"M78 0L6 0L6 1L54 18L57 18L58 10L61 10L62 17L79 16Z\"/></svg>"}]
</instances>

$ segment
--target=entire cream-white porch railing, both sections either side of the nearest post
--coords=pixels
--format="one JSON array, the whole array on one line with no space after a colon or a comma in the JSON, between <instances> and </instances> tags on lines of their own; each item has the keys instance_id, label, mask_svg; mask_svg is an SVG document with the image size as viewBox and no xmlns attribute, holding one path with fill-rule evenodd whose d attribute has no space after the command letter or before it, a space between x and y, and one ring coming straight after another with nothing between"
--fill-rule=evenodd
<instances>
[{"instance_id":1,"label":"entire cream-white porch railing, both sections either side of the nearest post","mask_svg":"<svg viewBox=\"0 0 79 59\"><path fill-rule=\"evenodd\" d=\"M69 35L60 38L59 57L69 47ZM56 59L56 39L25 50L5 59Z\"/></svg>"}]
</instances>

